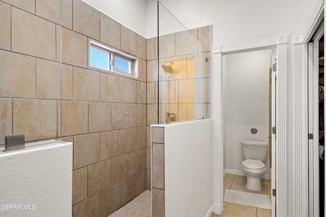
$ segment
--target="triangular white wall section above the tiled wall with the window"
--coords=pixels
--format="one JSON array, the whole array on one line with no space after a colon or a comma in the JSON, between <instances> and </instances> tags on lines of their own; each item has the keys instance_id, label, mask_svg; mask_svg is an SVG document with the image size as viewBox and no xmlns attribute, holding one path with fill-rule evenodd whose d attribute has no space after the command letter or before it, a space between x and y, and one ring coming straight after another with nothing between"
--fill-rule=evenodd
<instances>
[{"instance_id":1,"label":"triangular white wall section above the tiled wall with the window","mask_svg":"<svg viewBox=\"0 0 326 217\"><path fill-rule=\"evenodd\" d=\"M146 38L146 0L82 0Z\"/></svg>"}]
</instances>

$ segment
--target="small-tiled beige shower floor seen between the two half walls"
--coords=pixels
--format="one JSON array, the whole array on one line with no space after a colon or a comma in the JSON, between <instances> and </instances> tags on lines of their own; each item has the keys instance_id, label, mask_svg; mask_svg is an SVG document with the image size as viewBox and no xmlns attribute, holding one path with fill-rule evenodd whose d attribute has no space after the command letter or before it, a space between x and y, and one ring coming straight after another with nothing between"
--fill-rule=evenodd
<instances>
[{"instance_id":1,"label":"small-tiled beige shower floor seen between the two half walls","mask_svg":"<svg viewBox=\"0 0 326 217\"><path fill-rule=\"evenodd\" d=\"M151 217L151 191L146 190L129 203L113 212L110 217Z\"/></svg>"}]
</instances>

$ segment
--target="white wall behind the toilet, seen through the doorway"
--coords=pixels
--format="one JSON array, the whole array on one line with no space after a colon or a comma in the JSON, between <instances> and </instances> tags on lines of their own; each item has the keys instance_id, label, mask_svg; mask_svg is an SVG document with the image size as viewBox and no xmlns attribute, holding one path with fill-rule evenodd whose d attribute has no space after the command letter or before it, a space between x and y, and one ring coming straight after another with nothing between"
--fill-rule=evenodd
<instances>
[{"instance_id":1,"label":"white wall behind the toilet, seen through the doorway","mask_svg":"<svg viewBox=\"0 0 326 217\"><path fill-rule=\"evenodd\" d=\"M268 142L271 50L224 55L224 144L226 169L242 173L241 140ZM258 130L251 134L251 128ZM268 158L267 158L268 159ZM269 162L266 175L270 175Z\"/></svg>"}]
</instances>

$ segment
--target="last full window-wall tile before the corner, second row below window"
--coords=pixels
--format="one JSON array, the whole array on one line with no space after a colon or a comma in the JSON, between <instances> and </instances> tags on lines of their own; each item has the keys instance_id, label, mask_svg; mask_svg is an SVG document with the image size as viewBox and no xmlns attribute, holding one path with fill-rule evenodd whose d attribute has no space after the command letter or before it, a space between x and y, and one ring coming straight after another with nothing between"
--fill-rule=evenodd
<instances>
[{"instance_id":1,"label":"last full window-wall tile before the corner, second row below window","mask_svg":"<svg viewBox=\"0 0 326 217\"><path fill-rule=\"evenodd\" d=\"M129 127L146 125L146 108L142 104L129 104Z\"/></svg>"}]
</instances>

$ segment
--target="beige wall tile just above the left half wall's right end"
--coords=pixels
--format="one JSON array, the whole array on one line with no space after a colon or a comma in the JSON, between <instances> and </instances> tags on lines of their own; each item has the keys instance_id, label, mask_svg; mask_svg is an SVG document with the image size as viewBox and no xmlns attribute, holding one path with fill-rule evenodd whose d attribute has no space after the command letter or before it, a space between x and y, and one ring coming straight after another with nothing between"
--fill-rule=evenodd
<instances>
[{"instance_id":1,"label":"beige wall tile just above the left half wall's right end","mask_svg":"<svg viewBox=\"0 0 326 217\"><path fill-rule=\"evenodd\" d=\"M62 101L62 136L88 133L88 103Z\"/></svg>"}]
</instances>

